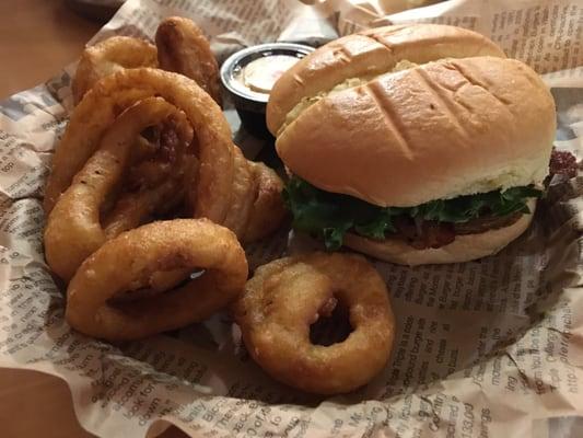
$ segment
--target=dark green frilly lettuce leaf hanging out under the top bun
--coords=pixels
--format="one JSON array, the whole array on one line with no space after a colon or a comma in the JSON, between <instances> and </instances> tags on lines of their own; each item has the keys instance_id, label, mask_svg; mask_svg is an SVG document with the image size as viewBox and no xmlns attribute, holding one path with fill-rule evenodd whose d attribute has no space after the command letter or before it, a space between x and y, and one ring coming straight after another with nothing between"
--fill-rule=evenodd
<instances>
[{"instance_id":1,"label":"dark green frilly lettuce leaf hanging out under the top bun","mask_svg":"<svg viewBox=\"0 0 583 438\"><path fill-rule=\"evenodd\" d=\"M533 186L512 187L453 199L436 199L416 207L378 207L348 195L329 193L292 176L283 191L285 205L298 230L324 239L328 250L342 245L349 231L376 240L395 232L397 216L460 223L479 217L503 217L529 212L526 201L539 197Z\"/></svg>"}]
</instances>

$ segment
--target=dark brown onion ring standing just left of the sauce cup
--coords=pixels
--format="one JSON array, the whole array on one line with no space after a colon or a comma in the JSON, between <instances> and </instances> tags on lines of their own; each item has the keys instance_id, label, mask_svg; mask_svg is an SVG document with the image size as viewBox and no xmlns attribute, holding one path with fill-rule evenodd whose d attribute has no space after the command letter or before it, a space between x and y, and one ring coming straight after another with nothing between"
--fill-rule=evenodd
<instances>
[{"instance_id":1,"label":"dark brown onion ring standing just left of the sauce cup","mask_svg":"<svg viewBox=\"0 0 583 438\"><path fill-rule=\"evenodd\" d=\"M221 105L219 66L205 34L191 20L170 16L158 26L160 68L195 80Z\"/></svg>"}]
</instances>

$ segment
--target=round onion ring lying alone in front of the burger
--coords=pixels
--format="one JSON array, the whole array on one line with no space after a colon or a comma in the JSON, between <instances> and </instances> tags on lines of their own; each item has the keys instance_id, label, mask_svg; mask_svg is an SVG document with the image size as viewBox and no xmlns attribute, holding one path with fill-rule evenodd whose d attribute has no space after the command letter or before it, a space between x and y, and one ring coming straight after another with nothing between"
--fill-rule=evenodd
<instances>
[{"instance_id":1,"label":"round onion ring lying alone in front of the burger","mask_svg":"<svg viewBox=\"0 0 583 438\"><path fill-rule=\"evenodd\" d=\"M310 341L310 325L336 298L353 331L330 346ZM259 267L233 304L248 353L275 379L317 394L368 383L390 355L395 321L386 286L360 255L313 253Z\"/></svg>"}]
</instances>

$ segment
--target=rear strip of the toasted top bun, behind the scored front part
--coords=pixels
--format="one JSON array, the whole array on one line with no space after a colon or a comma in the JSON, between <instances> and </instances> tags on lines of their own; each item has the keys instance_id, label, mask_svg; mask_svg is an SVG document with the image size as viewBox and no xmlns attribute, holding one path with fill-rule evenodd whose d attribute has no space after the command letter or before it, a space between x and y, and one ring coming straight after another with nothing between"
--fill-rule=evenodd
<instances>
[{"instance_id":1,"label":"rear strip of the toasted top bun, behind the scored front part","mask_svg":"<svg viewBox=\"0 0 583 438\"><path fill-rule=\"evenodd\" d=\"M267 126L276 135L303 99L327 92L347 79L383 74L403 60L425 64L475 56L505 57L485 36L441 24L385 26L345 36L306 56L278 80L269 96Z\"/></svg>"}]
</instances>

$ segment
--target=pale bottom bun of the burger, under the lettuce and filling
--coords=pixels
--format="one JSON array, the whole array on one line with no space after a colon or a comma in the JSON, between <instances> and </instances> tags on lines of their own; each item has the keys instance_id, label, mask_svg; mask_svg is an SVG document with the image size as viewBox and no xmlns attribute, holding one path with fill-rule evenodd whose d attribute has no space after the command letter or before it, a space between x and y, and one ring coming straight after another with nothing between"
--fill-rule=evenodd
<instances>
[{"instance_id":1,"label":"pale bottom bun of the burger, under the lettuce and filling","mask_svg":"<svg viewBox=\"0 0 583 438\"><path fill-rule=\"evenodd\" d=\"M536 201L529 201L528 208L534 212ZM469 262L495 254L521 235L530 224L533 214L523 215L509 227L486 231L479 234L462 234L438 249L416 250L398 239L375 241L355 234L345 237L345 246L398 265L430 265Z\"/></svg>"}]
</instances>

